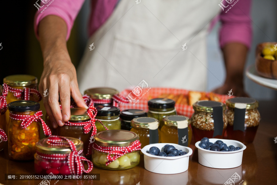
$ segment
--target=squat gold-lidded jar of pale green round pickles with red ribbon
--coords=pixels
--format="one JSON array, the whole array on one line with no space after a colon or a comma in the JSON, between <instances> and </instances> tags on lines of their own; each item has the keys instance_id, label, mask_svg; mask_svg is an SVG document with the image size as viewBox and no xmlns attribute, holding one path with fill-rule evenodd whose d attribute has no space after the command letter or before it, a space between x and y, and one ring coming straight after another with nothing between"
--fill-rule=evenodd
<instances>
[{"instance_id":1,"label":"squat gold-lidded jar of pale green round pickles with red ribbon","mask_svg":"<svg viewBox=\"0 0 277 185\"><path fill-rule=\"evenodd\" d=\"M106 130L94 136L92 162L107 170L125 170L139 164L139 136L128 130Z\"/></svg>"}]
</instances>

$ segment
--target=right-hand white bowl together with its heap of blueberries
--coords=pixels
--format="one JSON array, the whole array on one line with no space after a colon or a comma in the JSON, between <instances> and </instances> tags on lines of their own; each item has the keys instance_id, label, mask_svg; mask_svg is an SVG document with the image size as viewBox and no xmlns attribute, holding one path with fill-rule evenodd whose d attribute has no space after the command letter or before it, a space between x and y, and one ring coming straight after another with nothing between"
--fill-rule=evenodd
<instances>
[{"instance_id":1,"label":"right-hand white bowl together with its heap of blueberries","mask_svg":"<svg viewBox=\"0 0 277 185\"><path fill-rule=\"evenodd\" d=\"M211 168L235 168L242 163L246 146L239 141L229 139L202 138L195 143L198 148L198 162Z\"/></svg>"}]
</instances>

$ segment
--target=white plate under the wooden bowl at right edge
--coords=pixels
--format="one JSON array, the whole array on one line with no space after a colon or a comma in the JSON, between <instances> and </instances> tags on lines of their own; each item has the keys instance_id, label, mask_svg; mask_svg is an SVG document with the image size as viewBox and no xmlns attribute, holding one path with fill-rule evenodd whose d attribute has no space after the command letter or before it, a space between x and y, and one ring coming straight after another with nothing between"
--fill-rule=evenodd
<instances>
[{"instance_id":1,"label":"white plate under the wooden bowl at right edge","mask_svg":"<svg viewBox=\"0 0 277 185\"><path fill-rule=\"evenodd\" d=\"M254 81L255 83L277 90L277 80L259 76L258 72L256 71L255 64L248 66L245 73L247 78Z\"/></svg>"}]
</instances>

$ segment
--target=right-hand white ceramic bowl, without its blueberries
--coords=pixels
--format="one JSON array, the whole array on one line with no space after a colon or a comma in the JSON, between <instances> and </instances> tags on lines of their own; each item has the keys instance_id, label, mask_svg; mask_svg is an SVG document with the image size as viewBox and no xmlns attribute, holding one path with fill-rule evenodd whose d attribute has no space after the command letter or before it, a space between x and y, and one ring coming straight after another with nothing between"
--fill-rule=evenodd
<instances>
[{"instance_id":1,"label":"right-hand white ceramic bowl, without its blueberries","mask_svg":"<svg viewBox=\"0 0 277 185\"><path fill-rule=\"evenodd\" d=\"M229 140L229 139L209 139L210 142L215 143L217 140L221 140L227 144L227 146L234 145L235 147L241 147L240 150L231 151L231 152L218 152L205 150L200 148L198 141L195 143L195 146L198 148L198 162L206 167L211 168L235 168L239 167L242 163L243 150L246 149L246 146L239 141Z\"/></svg>"}]
</instances>

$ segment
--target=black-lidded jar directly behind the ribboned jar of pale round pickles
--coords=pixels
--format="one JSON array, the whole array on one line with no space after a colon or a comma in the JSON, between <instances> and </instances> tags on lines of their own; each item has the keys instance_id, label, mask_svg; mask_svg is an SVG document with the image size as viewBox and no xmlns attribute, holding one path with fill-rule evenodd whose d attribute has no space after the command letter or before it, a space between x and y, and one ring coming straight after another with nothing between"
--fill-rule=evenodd
<instances>
[{"instance_id":1,"label":"black-lidded jar directly behind the ribboned jar of pale round pickles","mask_svg":"<svg viewBox=\"0 0 277 185\"><path fill-rule=\"evenodd\" d=\"M100 120L109 130L120 130L121 121L119 120L120 109L114 106L98 105L97 115L95 119ZM95 121L97 132L106 130L105 127L99 122Z\"/></svg>"}]
</instances>

